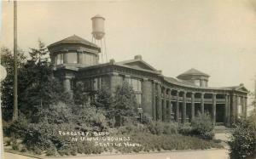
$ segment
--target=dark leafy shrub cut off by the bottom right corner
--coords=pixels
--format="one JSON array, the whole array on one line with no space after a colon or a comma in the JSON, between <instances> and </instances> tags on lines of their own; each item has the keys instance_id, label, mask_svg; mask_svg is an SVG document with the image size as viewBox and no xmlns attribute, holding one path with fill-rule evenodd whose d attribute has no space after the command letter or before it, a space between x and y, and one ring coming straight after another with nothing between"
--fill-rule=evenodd
<instances>
[{"instance_id":1,"label":"dark leafy shrub cut off by the bottom right corner","mask_svg":"<svg viewBox=\"0 0 256 159\"><path fill-rule=\"evenodd\" d=\"M229 142L230 158L242 159L252 156L256 145L256 129L247 120L237 120Z\"/></svg>"}]
</instances>

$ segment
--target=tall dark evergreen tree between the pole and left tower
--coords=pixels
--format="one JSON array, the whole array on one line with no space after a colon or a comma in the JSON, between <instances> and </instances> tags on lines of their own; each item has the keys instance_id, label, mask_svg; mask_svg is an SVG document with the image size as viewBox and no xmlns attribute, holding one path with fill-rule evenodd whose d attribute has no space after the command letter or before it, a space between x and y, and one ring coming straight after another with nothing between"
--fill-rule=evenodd
<instances>
[{"instance_id":1,"label":"tall dark evergreen tree between the pole and left tower","mask_svg":"<svg viewBox=\"0 0 256 159\"><path fill-rule=\"evenodd\" d=\"M49 63L49 51L38 41L38 48L31 48L30 58L20 72L23 83L19 88L20 111L30 116L38 107L56 105L59 101L68 102L61 83L53 76L53 65Z\"/></svg>"}]
</instances>

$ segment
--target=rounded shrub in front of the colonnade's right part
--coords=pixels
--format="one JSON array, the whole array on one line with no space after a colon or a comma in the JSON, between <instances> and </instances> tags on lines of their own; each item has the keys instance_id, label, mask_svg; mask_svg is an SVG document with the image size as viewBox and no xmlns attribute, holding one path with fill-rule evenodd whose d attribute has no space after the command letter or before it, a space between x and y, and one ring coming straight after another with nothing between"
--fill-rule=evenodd
<instances>
[{"instance_id":1,"label":"rounded shrub in front of the colonnade's right part","mask_svg":"<svg viewBox=\"0 0 256 159\"><path fill-rule=\"evenodd\" d=\"M214 136L212 119L208 113L199 113L198 116L195 116L195 119L191 122L191 127L191 134L201 139L212 139Z\"/></svg>"}]
</instances>

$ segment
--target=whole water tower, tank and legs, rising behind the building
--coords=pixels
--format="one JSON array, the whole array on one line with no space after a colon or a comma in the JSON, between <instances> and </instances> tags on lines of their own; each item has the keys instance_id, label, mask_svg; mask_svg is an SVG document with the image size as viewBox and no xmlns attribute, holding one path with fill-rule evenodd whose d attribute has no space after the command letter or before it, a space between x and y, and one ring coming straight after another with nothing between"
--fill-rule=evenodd
<instances>
[{"instance_id":1,"label":"whole water tower, tank and legs, rising behind the building","mask_svg":"<svg viewBox=\"0 0 256 159\"><path fill-rule=\"evenodd\" d=\"M107 49L106 49L106 38L105 38L105 30L104 30L104 22L105 18L99 14L91 18L92 21L92 43L101 46L102 52L102 62L104 61L104 54L105 60L108 61ZM103 48L104 46L104 48Z\"/></svg>"}]
</instances>

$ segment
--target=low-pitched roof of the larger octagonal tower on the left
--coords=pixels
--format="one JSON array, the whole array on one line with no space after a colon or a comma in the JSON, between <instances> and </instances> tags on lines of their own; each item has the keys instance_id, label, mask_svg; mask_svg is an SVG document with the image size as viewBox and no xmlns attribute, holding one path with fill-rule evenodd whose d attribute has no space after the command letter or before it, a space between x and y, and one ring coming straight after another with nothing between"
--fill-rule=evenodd
<instances>
[{"instance_id":1,"label":"low-pitched roof of the larger octagonal tower on the left","mask_svg":"<svg viewBox=\"0 0 256 159\"><path fill-rule=\"evenodd\" d=\"M87 41L84 38L79 37L77 35L73 35L71 37L64 38L63 40L61 40L59 42L50 44L48 47L50 48L50 47L53 47L53 46L56 46L56 45L59 45L59 44L64 44L64 43L79 43L79 44L84 44L86 46L99 48L96 44L90 43L89 41Z\"/></svg>"}]
</instances>

